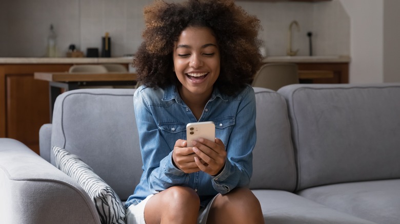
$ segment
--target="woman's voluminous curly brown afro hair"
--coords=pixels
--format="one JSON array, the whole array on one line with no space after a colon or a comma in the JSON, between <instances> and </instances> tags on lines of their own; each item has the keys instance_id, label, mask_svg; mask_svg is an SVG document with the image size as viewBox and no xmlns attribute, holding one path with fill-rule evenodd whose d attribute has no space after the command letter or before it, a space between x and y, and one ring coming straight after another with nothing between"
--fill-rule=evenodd
<instances>
[{"instance_id":1,"label":"woman's voluminous curly brown afro hair","mask_svg":"<svg viewBox=\"0 0 400 224\"><path fill-rule=\"evenodd\" d=\"M144 9L144 41L133 60L138 81L149 87L179 84L173 72L173 46L187 27L208 27L217 40L221 72L215 85L234 95L262 64L257 39L259 20L248 15L233 0L187 0L184 3L156 1Z\"/></svg>"}]
</instances>

